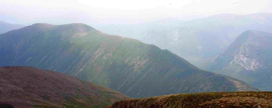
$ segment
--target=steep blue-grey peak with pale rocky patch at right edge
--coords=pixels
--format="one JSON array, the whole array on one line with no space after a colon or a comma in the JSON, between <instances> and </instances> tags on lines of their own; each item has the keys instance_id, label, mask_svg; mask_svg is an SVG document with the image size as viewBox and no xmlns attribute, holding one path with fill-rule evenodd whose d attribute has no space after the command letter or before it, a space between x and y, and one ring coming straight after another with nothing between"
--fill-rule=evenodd
<instances>
[{"instance_id":1,"label":"steep blue-grey peak with pale rocky patch at right edge","mask_svg":"<svg viewBox=\"0 0 272 108\"><path fill-rule=\"evenodd\" d=\"M247 30L208 66L208 70L272 90L272 34Z\"/></svg>"}]
</instances>

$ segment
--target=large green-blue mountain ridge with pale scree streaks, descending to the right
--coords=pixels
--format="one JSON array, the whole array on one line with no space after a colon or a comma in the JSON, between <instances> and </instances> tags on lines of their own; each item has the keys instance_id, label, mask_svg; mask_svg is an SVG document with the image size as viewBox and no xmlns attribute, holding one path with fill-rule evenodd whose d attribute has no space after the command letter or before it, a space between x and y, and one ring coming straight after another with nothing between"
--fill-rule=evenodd
<instances>
[{"instance_id":1,"label":"large green-blue mountain ridge with pale scree streaks, descending to the right","mask_svg":"<svg viewBox=\"0 0 272 108\"><path fill-rule=\"evenodd\" d=\"M0 43L0 66L54 70L133 98L257 90L237 79L198 69L168 50L80 23L34 24L1 34Z\"/></svg>"}]
</instances>

